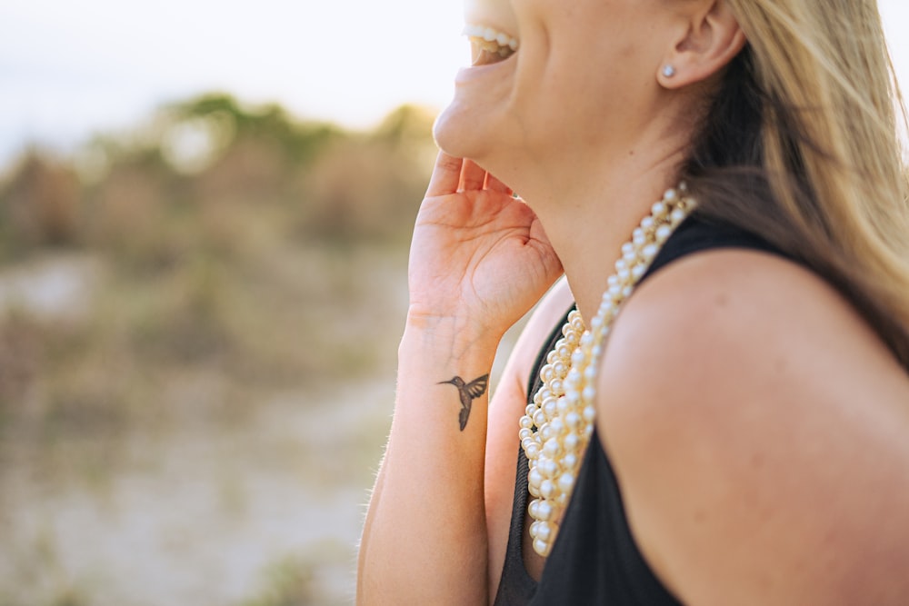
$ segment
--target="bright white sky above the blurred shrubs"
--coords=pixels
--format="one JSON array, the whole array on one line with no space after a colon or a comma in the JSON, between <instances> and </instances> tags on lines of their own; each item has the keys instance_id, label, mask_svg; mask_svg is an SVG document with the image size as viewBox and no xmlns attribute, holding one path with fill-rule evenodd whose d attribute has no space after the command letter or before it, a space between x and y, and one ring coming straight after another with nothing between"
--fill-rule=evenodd
<instances>
[{"instance_id":1,"label":"bright white sky above the blurred shrubs","mask_svg":"<svg viewBox=\"0 0 909 606\"><path fill-rule=\"evenodd\" d=\"M909 89L909 2L879 5ZM457 0L0 0L0 166L210 91L355 128L441 107L463 25Z\"/></svg>"}]
</instances>

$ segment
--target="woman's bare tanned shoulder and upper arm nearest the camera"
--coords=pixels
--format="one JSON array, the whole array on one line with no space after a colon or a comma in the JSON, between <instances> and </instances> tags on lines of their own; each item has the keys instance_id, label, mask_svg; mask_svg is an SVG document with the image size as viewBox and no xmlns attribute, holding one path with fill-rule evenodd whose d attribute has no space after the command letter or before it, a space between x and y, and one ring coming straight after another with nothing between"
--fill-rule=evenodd
<instances>
[{"instance_id":1,"label":"woman's bare tanned shoulder and upper arm nearest the camera","mask_svg":"<svg viewBox=\"0 0 909 606\"><path fill-rule=\"evenodd\" d=\"M739 250L655 273L597 399L635 537L683 601L909 603L909 377L813 273Z\"/></svg>"}]
</instances>

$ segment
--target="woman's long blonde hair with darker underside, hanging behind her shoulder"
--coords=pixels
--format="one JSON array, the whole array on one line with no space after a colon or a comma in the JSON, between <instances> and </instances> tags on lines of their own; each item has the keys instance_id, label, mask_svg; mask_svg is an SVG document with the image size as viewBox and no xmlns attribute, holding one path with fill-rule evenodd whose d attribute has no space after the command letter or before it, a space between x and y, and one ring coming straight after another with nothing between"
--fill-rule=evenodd
<instances>
[{"instance_id":1,"label":"woman's long blonde hair with darker underside, hanging behind her shoulder","mask_svg":"<svg viewBox=\"0 0 909 606\"><path fill-rule=\"evenodd\" d=\"M909 370L906 113L876 2L725 1L748 44L684 178L704 215L824 275Z\"/></svg>"}]
</instances>

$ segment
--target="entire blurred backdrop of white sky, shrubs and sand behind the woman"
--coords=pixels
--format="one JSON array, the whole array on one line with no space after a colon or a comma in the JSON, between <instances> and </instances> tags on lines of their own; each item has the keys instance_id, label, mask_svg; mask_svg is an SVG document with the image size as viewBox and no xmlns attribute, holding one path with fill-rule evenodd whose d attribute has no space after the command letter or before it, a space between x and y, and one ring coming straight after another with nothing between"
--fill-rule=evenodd
<instances>
[{"instance_id":1,"label":"entire blurred backdrop of white sky, shrubs and sand behind the woman","mask_svg":"<svg viewBox=\"0 0 909 606\"><path fill-rule=\"evenodd\" d=\"M0 5L0 605L353 601L462 26Z\"/></svg>"}]
</instances>

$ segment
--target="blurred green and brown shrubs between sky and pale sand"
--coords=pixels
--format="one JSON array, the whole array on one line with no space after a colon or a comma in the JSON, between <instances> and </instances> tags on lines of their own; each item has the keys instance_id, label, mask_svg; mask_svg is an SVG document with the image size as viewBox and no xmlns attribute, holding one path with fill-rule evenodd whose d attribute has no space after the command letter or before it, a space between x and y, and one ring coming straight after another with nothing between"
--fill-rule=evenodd
<instances>
[{"instance_id":1,"label":"blurred green and brown shrubs between sky and pale sand","mask_svg":"<svg viewBox=\"0 0 909 606\"><path fill-rule=\"evenodd\" d=\"M0 183L0 430L110 433L390 368L431 124L403 106L353 132L209 94L24 154ZM7 273L61 257L92 268L84 308L4 298Z\"/></svg>"}]
</instances>

